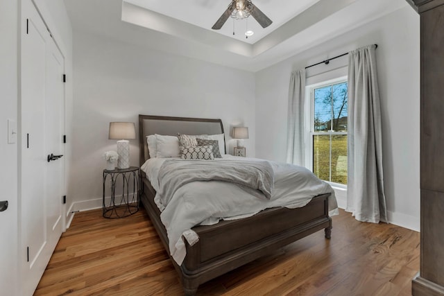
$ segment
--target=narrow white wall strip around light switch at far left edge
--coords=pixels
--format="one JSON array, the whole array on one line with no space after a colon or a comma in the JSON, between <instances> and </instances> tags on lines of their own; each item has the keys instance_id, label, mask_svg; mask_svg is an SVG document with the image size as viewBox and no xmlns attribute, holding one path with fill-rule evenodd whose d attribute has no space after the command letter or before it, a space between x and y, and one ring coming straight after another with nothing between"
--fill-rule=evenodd
<instances>
[{"instance_id":1,"label":"narrow white wall strip around light switch at far left edge","mask_svg":"<svg viewBox=\"0 0 444 296\"><path fill-rule=\"evenodd\" d=\"M9 207L0 212L0 289L17 295L17 143L8 144L8 119L17 123L17 1L0 1L0 200ZM17 130L16 130L17 131Z\"/></svg>"}]
</instances>

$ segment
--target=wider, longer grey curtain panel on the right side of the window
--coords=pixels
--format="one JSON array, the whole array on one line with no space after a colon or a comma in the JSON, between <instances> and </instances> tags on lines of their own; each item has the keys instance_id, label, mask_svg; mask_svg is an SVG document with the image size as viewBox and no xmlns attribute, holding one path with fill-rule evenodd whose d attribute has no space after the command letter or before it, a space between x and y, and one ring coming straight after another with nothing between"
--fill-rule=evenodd
<instances>
[{"instance_id":1,"label":"wider, longer grey curtain panel on the right side of the window","mask_svg":"<svg viewBox=\"0 0 444 296\"><path fill-rule=\"evenodd\" d=\"M357 220L371 223L387 221L375 49L375 45L364 46L348 57L346 210Z\"/></svg>"}]
</instances>

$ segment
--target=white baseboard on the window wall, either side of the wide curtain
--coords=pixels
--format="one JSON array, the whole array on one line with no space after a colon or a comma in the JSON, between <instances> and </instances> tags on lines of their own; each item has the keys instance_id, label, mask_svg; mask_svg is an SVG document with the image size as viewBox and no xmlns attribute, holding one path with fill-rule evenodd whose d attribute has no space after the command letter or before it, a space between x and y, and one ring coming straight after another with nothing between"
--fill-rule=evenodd
<instances>
[{"instance_id":1,"label":"white baseboard on the window wall, either side of the wide curtain","mask_svg":"<svg viewBox=\"0 0 444 296\"><path fill-rule=\"evenodd\" d=\"M347 189L333 187L338 207L345 209L347 207ZM394 211L387 211L388 223L420 232L420 217L409 216Z\"/></svg>"}]
</instances>

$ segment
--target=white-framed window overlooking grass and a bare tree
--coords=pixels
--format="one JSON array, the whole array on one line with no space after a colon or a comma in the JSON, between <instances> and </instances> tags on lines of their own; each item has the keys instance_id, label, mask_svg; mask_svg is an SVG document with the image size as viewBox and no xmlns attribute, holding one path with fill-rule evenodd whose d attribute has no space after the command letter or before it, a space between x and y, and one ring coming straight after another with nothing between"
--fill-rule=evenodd
<instances>
[{"instance_id":1,"label":"white-framed window overlooking grass and a bare tree","mask_svg":"<svg viewBox=\"0 0 444 296\"><path fill-rule=\"evenodd\" d=\"M308 164L321 180L346 186L347 80L341 78L307 88L311 103Z\"/></svg>"}]
</instances>

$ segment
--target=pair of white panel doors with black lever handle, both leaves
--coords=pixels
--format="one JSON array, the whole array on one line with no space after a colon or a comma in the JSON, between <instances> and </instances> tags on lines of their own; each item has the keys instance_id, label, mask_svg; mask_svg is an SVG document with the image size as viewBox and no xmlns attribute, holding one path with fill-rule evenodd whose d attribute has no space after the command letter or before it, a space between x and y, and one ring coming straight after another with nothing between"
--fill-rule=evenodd
<instances>
[{"instance_id":1,"label":"pair of white panel doors with black lever handle, both leaves","mask_svg":"<svg viewBox=\"0 0 444 296\"><path fill-rule=\"evenodd\" d=\"M21 295L33 295L62 234L63 58L31 1L22 1Z\"/></svg>"}]
</instances>

